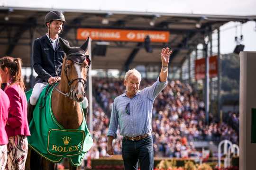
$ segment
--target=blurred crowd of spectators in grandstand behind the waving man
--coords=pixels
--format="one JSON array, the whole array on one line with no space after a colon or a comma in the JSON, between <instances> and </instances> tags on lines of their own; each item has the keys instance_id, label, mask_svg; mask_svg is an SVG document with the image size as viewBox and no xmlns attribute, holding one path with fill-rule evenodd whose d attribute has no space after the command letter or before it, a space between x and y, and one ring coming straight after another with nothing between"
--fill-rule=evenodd
<instances>
[{"instance_id":1,"label":"blurred crowd of spectators in grandstand behind the waving man","mask_svg":"<svg viewBox=\"0 0 256 170\"><path fill-rule=\"evenodd\" d=\"M94 96L101 104L94 102L93 135L95 145L91 154L98 158L106 155L107 128L114 98L124 93L125 87L119 79L93 79ZM151 85L154 81L142 80L140 89ZM108 115L108 116L107 116ZM238 144L238 116L229 113L219 121L210 114L207 125L205 122L204 102L192 87L178 80L170 81L154 102L152 131L155 156L188 157L195 151L194 141L219 142L228 139ZM121 153L121 137L113 144L114 153Z\"/></svg>"}]
</instances>

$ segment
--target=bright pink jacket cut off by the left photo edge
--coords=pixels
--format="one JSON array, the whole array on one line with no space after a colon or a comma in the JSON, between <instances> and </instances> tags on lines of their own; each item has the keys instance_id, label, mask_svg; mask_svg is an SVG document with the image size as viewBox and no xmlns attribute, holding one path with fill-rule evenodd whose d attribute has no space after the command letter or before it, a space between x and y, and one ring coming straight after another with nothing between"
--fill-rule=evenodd
<instances>
[{"instance_id":1,"label":"bright pink jacket cut off by the left photo edge","mask_svg":"<svg viewBox=\"0 0 256 170\"><path fill-rule=\"evenodd\" d=\"M0 89L0 145L8 144L8 136L5 126L10 109L10 101L6 93Z\"/></svg>"}]
</instances>

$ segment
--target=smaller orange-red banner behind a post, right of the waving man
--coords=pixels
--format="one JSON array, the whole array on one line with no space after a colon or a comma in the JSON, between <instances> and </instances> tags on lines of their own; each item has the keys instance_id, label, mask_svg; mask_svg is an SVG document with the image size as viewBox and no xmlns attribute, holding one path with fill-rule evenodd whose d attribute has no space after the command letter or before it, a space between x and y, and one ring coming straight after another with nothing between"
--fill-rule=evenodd
<instances>
[{"instance_id":1,"label":"smaller orange-red banner behind a post, right of the waving man","mask_svg":"<svg viewBox=\"0 0 256 170\"><path fill-rule=\"evenodd\" d=\"M218 59L217 56L211 56L209 58L209 76L215 77L218 75ZM195 60L195 79L200 80L205 77L205 59Z\"/></svg>"}]
</instances>

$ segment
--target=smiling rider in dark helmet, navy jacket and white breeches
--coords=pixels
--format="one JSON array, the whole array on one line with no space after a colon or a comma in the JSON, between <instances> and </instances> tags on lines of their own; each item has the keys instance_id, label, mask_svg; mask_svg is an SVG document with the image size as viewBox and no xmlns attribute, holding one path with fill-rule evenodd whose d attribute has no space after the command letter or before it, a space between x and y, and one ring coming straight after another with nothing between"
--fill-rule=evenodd
<instances>
[{"instance_id":1,"label":"smiling rider in dark helmet, navy jacket and white breeches","mask_svg":"<svg viewBox=\"0 0 256 170\"><path fill-rule=\"evenodd\" d=\"M45 26L48 33L37 38L33 46L33 67L38 74L36 85L33 88L28 102L28 121L32 119L32 112L42 90L48 85L60 80L64 51L59 43L59 34L63 30L65 17L60 11L50 11L45 17ZM68 41L62 39L67 44ZM87 100L84 100L85 102ZM85 109L85 107L83 107Z\"/></svg>"}]
</instances>

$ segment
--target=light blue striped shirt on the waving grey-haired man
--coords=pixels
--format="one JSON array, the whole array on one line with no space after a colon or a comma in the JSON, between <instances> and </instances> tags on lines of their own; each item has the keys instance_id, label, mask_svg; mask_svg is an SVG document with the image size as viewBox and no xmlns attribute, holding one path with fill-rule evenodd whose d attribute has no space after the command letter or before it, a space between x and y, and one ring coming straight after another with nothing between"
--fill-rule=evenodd
<instances>
[{"instance_id":1,"label":"light blue striped shirt on the waving grey-haired man","mask_svg":"<svg viewBox=\"0 0 256 170\"><path fill-rule=\"evenodd\" d=\"M165 88L166 82L157 81L138 91L132 98L123 93L115 98L110 118L108 136L117 138L120 127L122 136L140 136L152 131L152 109L157 95ZM129 115L126 106L129 103Z\"/></svg>"}]
</instances>

